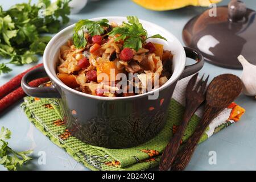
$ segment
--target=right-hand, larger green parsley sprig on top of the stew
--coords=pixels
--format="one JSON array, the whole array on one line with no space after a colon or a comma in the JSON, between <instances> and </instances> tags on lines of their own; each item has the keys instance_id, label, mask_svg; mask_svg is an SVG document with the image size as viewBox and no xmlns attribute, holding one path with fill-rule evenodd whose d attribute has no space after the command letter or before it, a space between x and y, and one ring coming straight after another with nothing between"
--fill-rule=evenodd
<instances>
[{"instance_id":1,"label":"right-hand, larger green parsley sprig on top of the stew","mask_svg":"<svg viewBox=\"0 0 256 182\"><path fill-rule=\"evenodd\" d=\"M124 40L123 47L129 47L138 51L142 48L142 43L149 38L159 38L166 40L163 36L156 34L147 38L147 31L143 28L142 24L139 23L137 16L127 16L128 23L123 22L122 26L115 27L111 32L110 36L119 35L115 38L115 41Z\"/></svg>"}]
</instances>

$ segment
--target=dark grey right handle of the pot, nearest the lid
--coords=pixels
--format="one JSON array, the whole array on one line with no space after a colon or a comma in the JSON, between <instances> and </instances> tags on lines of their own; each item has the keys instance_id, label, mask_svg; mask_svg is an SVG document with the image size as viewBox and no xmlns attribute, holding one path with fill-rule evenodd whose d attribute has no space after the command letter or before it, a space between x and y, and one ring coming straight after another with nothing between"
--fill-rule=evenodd
<instances>
[{"instance_id":1,"label":"dark grey right handle of the pot, nearest the lid","mask_svg":"<svg viewBox=\"0 0 256 182\"><path fill-rule=\"evenodd\" d=\"M179 80L199 72L200 69L203 68L204 66L204 57L199 51L189 47L184 47L184 49L185 49L186 56L196 60L197 63L185 66L185 69L181 74Z\"/></svg>"}]
</instances>

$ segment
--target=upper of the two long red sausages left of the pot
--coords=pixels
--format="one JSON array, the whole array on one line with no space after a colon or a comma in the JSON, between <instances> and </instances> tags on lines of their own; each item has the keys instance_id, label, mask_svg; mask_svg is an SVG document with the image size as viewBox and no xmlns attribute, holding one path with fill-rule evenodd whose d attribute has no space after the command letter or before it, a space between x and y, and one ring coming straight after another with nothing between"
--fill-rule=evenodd
<instances>
[{"instance_id":1,"label":"upper of the two long red sausages left of the pot","mask_svg":"<svg viewBox=\"0 0 256 182\"><path fill-rule=\"evenodd\" d=\"M8 81L6 84L0 86L0 98L3 98L7 94L9 94L11 91L13 91L14 89L18 88L20 86L20 82L22 80L22 77L27 72L31 71L32 69L35 69L35 68L38 68L38 67L42 67L42 65L43 65L43 63L35 65L35 67L32 67L32 68L28 69L27 71L25 71L23 73L20 73L19 75L15 76L10 81Z\"/></svg>"}]
</instances>

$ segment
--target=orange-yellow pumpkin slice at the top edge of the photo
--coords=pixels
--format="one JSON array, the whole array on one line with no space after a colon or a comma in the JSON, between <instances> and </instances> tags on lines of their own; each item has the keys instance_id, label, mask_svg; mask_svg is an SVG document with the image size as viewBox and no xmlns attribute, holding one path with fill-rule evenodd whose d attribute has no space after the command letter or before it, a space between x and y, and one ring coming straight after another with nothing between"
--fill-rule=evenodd
<instances>
[{"instance_id":1,"label":"orange-yellow pumpkin slice at the top edge of the photo","mask_svg":"<svg viewBox=\"0 0 256 182\"><path fill-rule=\"evenodd\" d=\"M209 6L222 0L132 0L138 5L155 11L180 9L185 6Z\"/></svg>"}]
</instances>

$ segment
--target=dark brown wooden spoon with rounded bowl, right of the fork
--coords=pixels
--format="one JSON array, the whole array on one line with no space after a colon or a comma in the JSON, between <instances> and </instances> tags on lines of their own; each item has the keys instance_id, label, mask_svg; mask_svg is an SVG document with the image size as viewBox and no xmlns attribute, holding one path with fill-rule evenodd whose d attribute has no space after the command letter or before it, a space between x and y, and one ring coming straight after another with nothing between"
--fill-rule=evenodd
<instances>
[{"instance_id":1,"label":"dark brown wooden spoon with rounded bowl, right of the fork","mask_svg":"<svg viewBox=\"0 0 256 182\"><path fill-rule=\"evenodd\" d=\"M197 125L195 132L177 153L172 170L183 170L189 163L193 152L204 131L218 114L240 95L242 81L235 75L224 74L217 76L210 82L207 89L204 115Z\"/></svg>"}]
</instances>

